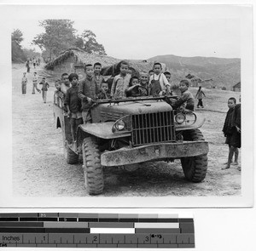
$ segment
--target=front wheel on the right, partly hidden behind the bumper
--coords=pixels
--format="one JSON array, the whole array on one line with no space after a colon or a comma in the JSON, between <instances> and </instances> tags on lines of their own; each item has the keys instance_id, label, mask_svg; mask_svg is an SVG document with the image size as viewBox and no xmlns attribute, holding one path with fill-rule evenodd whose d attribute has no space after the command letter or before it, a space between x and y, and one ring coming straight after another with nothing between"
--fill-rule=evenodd
<instances>
[{"instance_id":1,"label":"front wheel on the right, partly hidden behind the bumper","mask_svg":"<svg viewBox=\"0 0 256 251\"><path fill-rule=\"evenodd\" d=\"M199 129L184 131L183 140L198 141L204 140L203 135ZM195 157L182 157L181 163L183 166L183 173L189 181L201 182L207 175L207 154Z\"/></svg>"}]
</instances>

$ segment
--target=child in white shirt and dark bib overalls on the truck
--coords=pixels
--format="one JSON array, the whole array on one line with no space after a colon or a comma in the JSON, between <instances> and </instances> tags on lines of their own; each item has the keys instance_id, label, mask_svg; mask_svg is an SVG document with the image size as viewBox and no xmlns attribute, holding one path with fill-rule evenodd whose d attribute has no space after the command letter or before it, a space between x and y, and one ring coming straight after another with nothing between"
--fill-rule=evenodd
<instances>
[{"instance_id":1,"label":"child in white shirt and dark bib overalls on the truck","mask_svg":"<svg viewBox=\"0 0 256 251\"><path fill-rule=\"evenodd\" d=\"M169 94L171 93L170 83L167 81L165 74L161 73L162 65L160 63L154 63L154 74L149 77L149 95L155 94Z\"/></svg>"}]
</instances>

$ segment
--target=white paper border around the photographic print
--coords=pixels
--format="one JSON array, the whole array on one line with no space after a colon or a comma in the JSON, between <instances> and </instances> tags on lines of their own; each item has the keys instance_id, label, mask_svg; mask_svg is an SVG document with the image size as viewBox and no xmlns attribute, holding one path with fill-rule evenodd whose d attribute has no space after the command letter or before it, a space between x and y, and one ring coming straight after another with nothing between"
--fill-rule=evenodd
<instances>
[{"instance_id":1,"label":"white paper border around the photographic print","mask_svg":"<svg viewBox=\"0 0 256 251\"><path fill-rule=\"evenodd\" d=\"M84 6L83 6L84 8ZM13 197L12 196L12 72L10 34L13 31L12 20L44 20L44 19L96 19L92 9L101 14L101 19L145 19L138 15L152 14L151 19L159 20L154 16L155 9L163 11L162 20L170 18L188 18L195 5L183 6L183 14L177 9L180 5L168 5L172 11L166 14L165 5L127 5L127 6L86 6L83 12L79 6L1 6L1 47L0 67L3 72L0 104L3 107L4 124L0 123L3 144L0 146L1 169L0 177L0 207L2 208L197 208L197 207L252 207L253 206L253 8L246 5L196 5L201 12L200 18L225 18L241 20L241 196L232 197ZM190 9L189 9L190 8ZM101 10L102 9L102 10ZM120 10L125 10L120 11ZM129 12L127 9L132 9ZM143 12L142 12L143 11ZM148 12L147 12L148 11ZM110 14L109 14L110 12ZM29 14L29 15L26 15ZM104 16L105 14L105 16ZM129 14L129 15L128 15ZM176 15L175 15L176 14ZM1 112L2 113L2 112ZM4 137L3 137L4 136ZM72 206L71 206L72 205Z\"/></svg>"}]
</instances>

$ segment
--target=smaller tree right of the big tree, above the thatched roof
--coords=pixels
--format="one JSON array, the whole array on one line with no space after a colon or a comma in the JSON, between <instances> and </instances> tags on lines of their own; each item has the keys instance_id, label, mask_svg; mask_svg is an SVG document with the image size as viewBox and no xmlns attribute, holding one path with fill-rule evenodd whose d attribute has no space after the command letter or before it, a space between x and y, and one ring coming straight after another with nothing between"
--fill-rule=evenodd
<instances>
[{"instance_id":1,"label":"smaller tree right of the big tree, above the thatched roof","mask_svg":"<svg viewBox=\"0 0 256 251\"><path fill-rule=\"evenodd\" d=\"M90 30L84 30L81 36L76 38L75 45L88 53L107 55L101 43L97 43L96 35Z\"/></svg>"}]
</instances>

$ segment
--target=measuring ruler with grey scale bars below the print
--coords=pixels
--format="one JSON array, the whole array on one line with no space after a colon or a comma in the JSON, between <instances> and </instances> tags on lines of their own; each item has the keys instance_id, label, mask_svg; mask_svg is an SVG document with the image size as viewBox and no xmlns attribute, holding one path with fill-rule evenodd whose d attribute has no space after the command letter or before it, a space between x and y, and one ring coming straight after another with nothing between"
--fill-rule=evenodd
<instances>
[{"instance_id":1,"label":"measuring ruler with grey scale bars below the print","mask_svg":"<svg viewBox=\"0 0 256 251\"><path fill-rule=\"evenodd\" d=\"M0 247L195 248L178 214L0 214Z\"/></svg>"}]
</instances>

